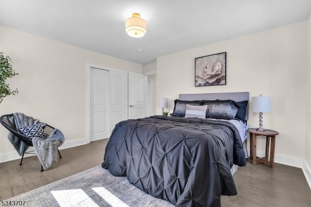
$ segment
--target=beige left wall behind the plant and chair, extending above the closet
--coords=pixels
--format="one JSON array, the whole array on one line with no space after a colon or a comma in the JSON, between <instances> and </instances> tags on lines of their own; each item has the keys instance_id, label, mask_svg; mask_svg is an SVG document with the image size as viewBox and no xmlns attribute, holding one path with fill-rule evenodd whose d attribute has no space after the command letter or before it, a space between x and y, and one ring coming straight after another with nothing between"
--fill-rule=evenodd
<instances>
[{"instance_id":1,"label":"beige left wall behind the plant and chair, extending above the closet","mask_svg":"<svg viewBox=\"0 0 311 207\"><path fill-rule=\"evenodd\" d=\"M0 114L31 115L69 133L67 141L86 138L86 63L143 73L140 64L3 26L0 51L19 73L10 80L19 93L3 100ZM1 125L0 155L14 151L7 133Z\"/></svg>"}]
</instances>

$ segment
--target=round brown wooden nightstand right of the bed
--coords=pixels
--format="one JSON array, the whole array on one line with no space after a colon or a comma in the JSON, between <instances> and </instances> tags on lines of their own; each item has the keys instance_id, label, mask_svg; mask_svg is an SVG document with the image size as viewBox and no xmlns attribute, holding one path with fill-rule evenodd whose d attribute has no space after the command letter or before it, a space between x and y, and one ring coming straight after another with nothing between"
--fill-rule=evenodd
<instances>
[{"instance_id":1,"label":"round brown wooden nightstand right of the bed","mask_svg":"<svg viewBox=\"0 0 311 207\"><path fill-rule=\"evenodd\" d=\"M250 135L250 158L253 160L253 164L265 164L269 167L273 168L274 161L274 149L276 144L276 135L278 132L270 129L266 129L263 132L257 131L255 128L250 128L247 130ZM265 157L257 157L256 156L256 139L257 136L266 136L266 154ZM270 146L270 138L271 138L271 146ZM269 146L270 146L270 160L269 160Z\"/></svg>"}]
</instances>

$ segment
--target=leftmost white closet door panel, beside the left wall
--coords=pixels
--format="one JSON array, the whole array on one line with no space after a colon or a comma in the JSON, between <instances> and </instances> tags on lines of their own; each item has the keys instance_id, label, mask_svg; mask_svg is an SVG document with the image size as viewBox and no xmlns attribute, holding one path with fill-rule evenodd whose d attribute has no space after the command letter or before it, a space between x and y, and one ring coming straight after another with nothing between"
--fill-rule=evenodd
<instances>
[{"instance_id":1,"label":"leftmost white closet door panel, beside the left wall","mask_svg":"<svg viewBox=\"0 0 311 207\"><path fill-rule=\"evenodd\" d=\"M91 141L109 138L108 70L91 68Z\"/></svg>"}]
</instances>

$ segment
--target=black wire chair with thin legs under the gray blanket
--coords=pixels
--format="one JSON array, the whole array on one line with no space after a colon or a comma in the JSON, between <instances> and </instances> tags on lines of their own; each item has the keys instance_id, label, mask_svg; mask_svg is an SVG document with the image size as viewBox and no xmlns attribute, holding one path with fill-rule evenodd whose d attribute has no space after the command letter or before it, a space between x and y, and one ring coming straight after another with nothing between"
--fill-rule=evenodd
<instances>
[{"instance_id":1,"label":"black wire chair with thin legs under the gray blanket","mask_svg":"<svg viewBox=\"0 0 311 207\"><path fill-rule=\"evenodd\" d=\"M32 138L29 138L29 137L26 137L25 135L21 134L20 132L18 132L17 130L17 127L15 125L15 121L14 121L14 116L13 114L6 114L6 115L3 115L0 117L0 123L7 129L9 130L10 132L12 132L12 134L14 134L14 136L16 136L17 138L19 138L22 142L24 142L27 146L29 147L33 147L33 141L32 141ZM44 128L43 128L43 131L45 133L47 133L49 136L52 135L52 133L54 132L54 127L50 126L50 125L46 125ZM22 165L23 163L23 158L24 158L24 154L35 154L33 152L35 151L30 151L30 152L25 152L26 151L26 148L25 147L25 150L23 152L23 155L21 156L21 160L20 160L20 163L19 165ZM60 155L60 152L59 150L57 149L58 151L58 154L59 154L59 158L62 158L62 155ZM41 165L41 172L43 171L43 167Z\"/></svg>"}]
</instances>

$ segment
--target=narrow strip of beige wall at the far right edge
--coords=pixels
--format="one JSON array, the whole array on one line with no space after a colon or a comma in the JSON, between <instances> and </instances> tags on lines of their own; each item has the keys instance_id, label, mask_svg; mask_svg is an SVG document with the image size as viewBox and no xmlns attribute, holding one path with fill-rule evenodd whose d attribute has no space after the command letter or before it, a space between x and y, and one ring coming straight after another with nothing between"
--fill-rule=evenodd
<instances>
[{"instance_id":1,"label":"narrow strip of beige wall at the far right edge","mask_svg":"<svg viewBox=\"0 0 311 207\"><path fill-rule=\"evenodd\" d=\"M307 136L306 136L306 162L311 167L311 14L308 19L308 108L307 108ZM311 173L311 172L309 172ZM310 180L311 181L311 180ZM310 187L311 188L311 187Z\"/></svg>"}]
</instances>

